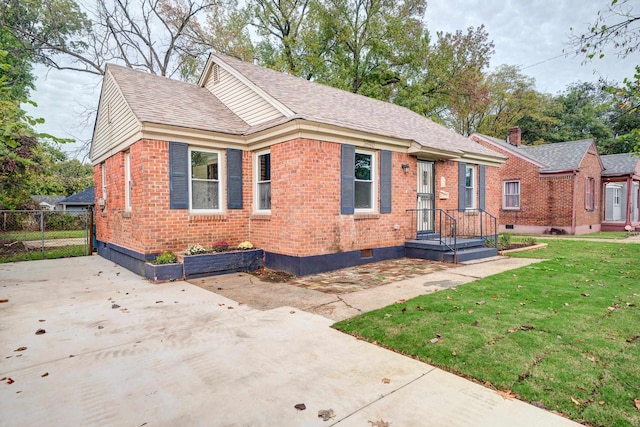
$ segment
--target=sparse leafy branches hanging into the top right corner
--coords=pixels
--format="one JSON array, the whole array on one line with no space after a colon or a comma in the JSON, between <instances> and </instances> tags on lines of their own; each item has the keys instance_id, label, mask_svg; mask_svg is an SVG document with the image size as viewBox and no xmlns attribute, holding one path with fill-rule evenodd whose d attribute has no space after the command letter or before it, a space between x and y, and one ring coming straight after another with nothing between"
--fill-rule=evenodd
<instances>
[{"instance_id":1,"label":"sparse leafy branches hanging into the top right corner","mask_svg":"<svg viewBox=\"0 0 640 427\"><path fill-rule=\"evenodd\" d=\"M571 37L571 46L588 59L604 57L607 47L622 58L635 52L640 48L640 10L633 7L632 0L611 0L607 9L598 11L586 33Z\"/></svg>"}]
</instances>

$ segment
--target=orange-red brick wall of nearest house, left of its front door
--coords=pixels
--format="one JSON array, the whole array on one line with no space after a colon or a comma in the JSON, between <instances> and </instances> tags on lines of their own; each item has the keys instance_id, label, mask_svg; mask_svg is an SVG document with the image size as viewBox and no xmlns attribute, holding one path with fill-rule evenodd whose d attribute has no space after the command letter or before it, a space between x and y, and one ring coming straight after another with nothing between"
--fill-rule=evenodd
<instances>
[{"instance_id":1,"label":"orange-red brick wall of nearest house, left of its front door","mask_svg":"<svg viewBox=\"0 0 640 427\"><path fill-rule=\"evenodd\" d=\"M391 214L341 215L340 144L296 139L271 147L271 215L253 213L251 152L243 154L243 209L190 215L186 209L169 209L168 142L140 140L129 150L131 212L124 209L124 154L118 153L106 161L107 205L97 214L97 238L144 254L250 240L284 255L322 255L402 245L412 230L406 210L416 203L416 159L406 154L393 153ZM376 160L379 166L379 153ZM410 165L409 173L402 163ZM100 165L94 178L100 189ZM377 204L379 188L376 193ZM226 198L226 189L223 194Z\"/></svg>"}]
</instances>

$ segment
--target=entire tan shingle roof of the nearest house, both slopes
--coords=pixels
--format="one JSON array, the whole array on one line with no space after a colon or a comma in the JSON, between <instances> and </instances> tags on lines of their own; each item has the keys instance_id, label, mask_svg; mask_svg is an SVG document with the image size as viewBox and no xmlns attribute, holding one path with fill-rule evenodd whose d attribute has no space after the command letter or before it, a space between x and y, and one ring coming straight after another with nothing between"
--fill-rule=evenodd
<instances>
[{"instance_id":1,"label":"entire tan shingle roof of the nearest house, both slopes","mask_svg":"<svg viewBox=\"0 0 640 427\"><path fill-rule=\"evenodd\" d=\"M234 68L255 86L295 113L251 127L206 88L119 65L108 70L141 122L248 135L303 118L353 130L415 141L457 155L500 154L469 141L446 127L388 102L378 101L225 56L216 60Z\"/></svg>"}]
</instances>

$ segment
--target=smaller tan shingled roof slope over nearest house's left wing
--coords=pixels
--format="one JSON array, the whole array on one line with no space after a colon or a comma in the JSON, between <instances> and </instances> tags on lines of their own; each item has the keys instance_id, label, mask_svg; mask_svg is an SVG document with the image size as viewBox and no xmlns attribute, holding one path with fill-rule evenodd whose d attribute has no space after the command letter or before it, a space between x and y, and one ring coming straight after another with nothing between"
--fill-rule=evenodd
<instances>
[{"instance_id":1,"label":"smaller tan shingled roof slope over nearest house's left wing","mask_svg":"<svg viewBox=\"0 0 640 427\"><path fill-rule=\"evenodd\" d=\"M120 65L107 71L140 122L231 134L249 128L205 88Z\"/></svg>"}]
</instances>

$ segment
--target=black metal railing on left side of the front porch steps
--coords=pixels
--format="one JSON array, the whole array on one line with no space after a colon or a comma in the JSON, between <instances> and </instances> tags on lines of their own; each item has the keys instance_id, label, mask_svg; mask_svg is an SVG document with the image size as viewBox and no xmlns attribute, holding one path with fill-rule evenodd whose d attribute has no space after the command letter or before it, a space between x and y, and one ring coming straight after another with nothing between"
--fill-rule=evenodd
<instances>
[{"instance_id":1,"label":"black metal railing on left side of the front porch steps","mask_svg":"<svg viewBox=\"0 0 640 427\"><path fill-rule=\"evenodd\" d=\"M407 209L413 228L407 239L438 241L454 254L457 252L457 225L453 215L443 209ZM420 221L418 221L420 219Z\"/></svg>"}]
</instances>

